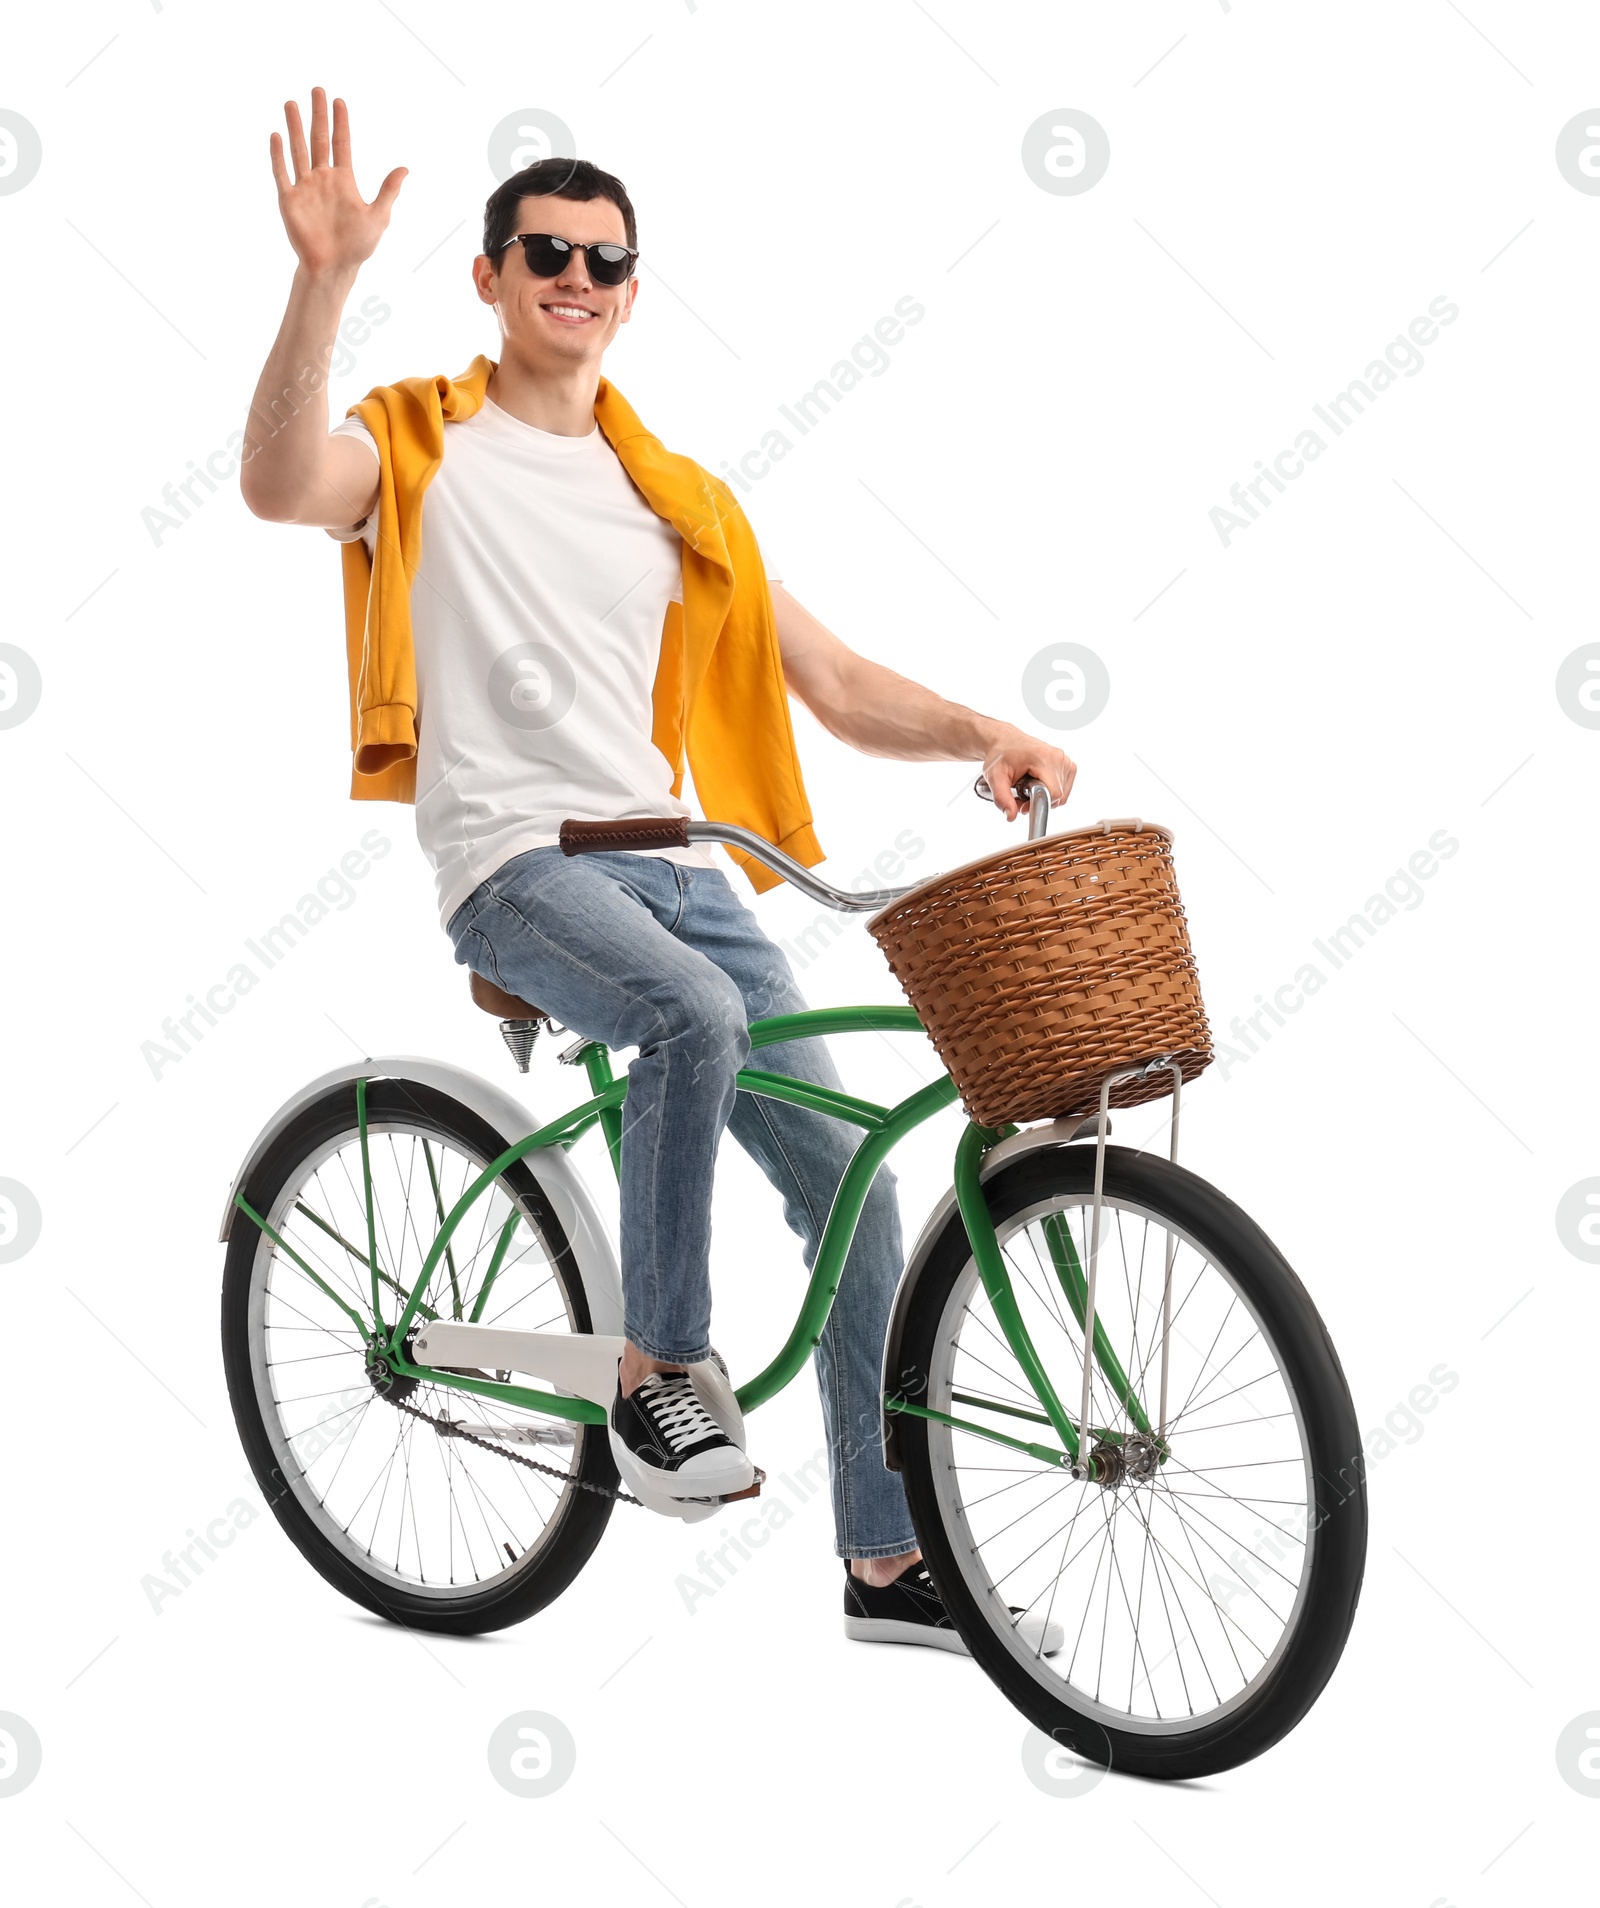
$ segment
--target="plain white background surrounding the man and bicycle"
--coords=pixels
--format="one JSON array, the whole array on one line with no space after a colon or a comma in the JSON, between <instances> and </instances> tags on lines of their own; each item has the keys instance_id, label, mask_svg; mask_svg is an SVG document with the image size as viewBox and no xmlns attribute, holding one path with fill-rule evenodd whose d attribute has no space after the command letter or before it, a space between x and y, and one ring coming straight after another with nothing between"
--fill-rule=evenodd
<instances>
[{"instance_id":1,"label":"plain white background surrounding the man and bicycle","mask_svg":"<svg viewBox=\"0 0 1600 1908\"><path fill-rule=\"evenodd\" d=\"M44 679L0 731L0 1177L44 1213L0 1267L0 1710L44 1742L0 1799L11 1898L1571 1898L1596 1803L1556 1736L1600 1710L1600 1273L1554 1212L1600 1172L1577 964L1600 733L1554 679L1596 635L1600 198L1554 141L1596 57L1592 13L1507 0L11 15L0 107L44 151L0 197L0 641ZM1186 1103L1188 1164L1297 1265L1364 1427L1440 1362L1461 1379L1373 1462L1348 1650L1257 1763L1043 1795L971 1664L843 1639L826 1498L694 1614L673 1580L715 1526L626 1509L574 1589L486 1639L364 1618L265 1515L151 1610L162 1553L257 1502L217 1353L215 1227L250 1137L353 1051L509 1078L410 813L345 798L338 550L233 485L160 542L141 521L244 422L292 269L267 135L313 84L349 99L368 195L412 168L355 294L393 315L336 412L494 351L467 280L486 143L530 107L633 195L643 284L606 374L709 467L898 298L927 307L746 508L803 603L954 698L1036 725L1037 649L1104 658L1110 706L1066 738L1070 817L1177 830L1219 1038L1436 830L1459 840L1421 904ZM1079 197L1020 160L1058 107L1110 137ZM1228 487L1434 298L1459 319L1423 370L1224 546ZM974 765L797 733L824 872L906 826L923 872L1005 840ZM162 1019L374 824L395 847L355 904L153 1078ZM774 935L816 912L759 901ZM898 998L858 925L801 983ZM549 1046L540 1109L574 1091ZM933 1076L921 1042L835 1051L864 1093ZM944 1114L896 1156L908 1236L955 1133ZM610 1206L599 1141L574 1160ZM799 1284L730 1149L736 1376ZM805 1460L812 1385L753 1429L769 1469ZM486 1767L515 1710L578 1742L542 1801Z\"/></svg>"}]
</instances>

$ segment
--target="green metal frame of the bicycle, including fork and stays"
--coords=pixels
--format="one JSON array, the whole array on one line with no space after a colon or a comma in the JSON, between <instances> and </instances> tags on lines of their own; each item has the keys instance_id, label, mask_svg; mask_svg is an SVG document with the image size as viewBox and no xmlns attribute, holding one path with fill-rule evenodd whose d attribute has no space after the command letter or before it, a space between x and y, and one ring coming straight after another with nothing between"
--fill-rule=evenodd
<instances>
[{"instance_id":1,"label":"green metal frame of the bicycle, including fork and stays","mask_svg":"<svg viewBox=\"0 0 1600 1908\"><path fill-rule=\"evenodd\" d=\"M759 1049L778 1046L786 1040L824 1038L830 1034L919 1034L923 1030L923 1023L917 1019L913 1007L814 1007L805 1013L780 1013L770 1019L753 1021L749 1027L749 1044L751 1049ZM574 1107L570 1112L549 1120L545 1126L538 1128L538 1131L519 1139L515 1145L507 1147L500 1158L490 1160L465 1192L462 1192L448 1213L442 1210L439 1179L429 1152L427 1170L441 1223L433 1244L427 1250L421 1271L416 1275L408 1292L399 1284L399 1280L383 1271L378 1259L366 1130L368 1082L364 1078L357 1080L357 1126L360 1133L360 1170L366 1200L368 1250L360 1252L353 1242L341 1238L338 1233L332 1233L326 1221L318 1219L317 1213L307 1212L307 1217L313 1219L324 1233L330 1233L330 1236L336 1238L359 1265L368 1269L372 1280L370 1320L362 1318L355 1307L345 1303L345 1299L341 1299L332 1286L318 1276L318 1273L267 1223L267 1219L263 1219L261 1213L246 1202L242 1191L235 1196L235 1204L307 1278L313 1280L313 1284L324 1292L326 1297L339 1305L339 1309L360 1332L368 1353L381 1357L389 1370L397 1376L427 1379L429 1383L448 1387L452 1391L475 1393L502 1404L515 1404L523 1410L542 1412L551 1418L564 1418L572 1423L601 1425L606 1421L605 1408L587 1399L559 1397L553 1391L542 1391L532 1385L502 1383L498 1379L473 1378L463 1372L441 1372L431 1366L412 1364L404 1355L406 1334L418 1318L431 1320L441 1317L433 1311L433 1307L423 1303L423 1292L427 1292L441 1259L450 1269L450 1294L456 1307L454 1317L462 1317L462 1294L452 1240L471 1208L496 1183L496 1179L502 1177L502 1173L505 1173L519 1160L524 1160L530 1152L538 1152L544 1147L570 1147L576 1139L589 1131L591 1126L599 1126L605 1135L612 1170L618 1173L622 1172L622 1101L627 1095L627 1080L612 1076L610 1053L599 1042L585 1044L578 1057L587 1072L589 1088L593 1089L591 1097L580 1107ZM864 1139L851 1156L851 1164L845 1168L839 1191L833 1196L833 1208L828 1213L828 1223L822 1231L822 1240L816 1250L810 1282L807 1284L799 1317L770 1364L757 1372L748 1383L738 1387L736 1395L740 1408L744 1412L751 1412L757 1404L765 1404L767 1399L782 1391L784 1385L788 1385L790 1379L803 1370L810 1358L812 1347L822 1338L822 1328L828 1324L828 1315L833 1309L833 1297L845 1273L845 1259L851 1250L851 1240L854 1238L856 1221L860 1219L860 1212L866 1204L872 1181L877 1175L877 1168L910 1131L923 1124L923 1120L952 1105L957 1097L957 1089L955 1082L946 1074L944 1078L919 1088L894 1107L879 1107L873 1101L856 1099L852 1093L839 1093L833 1088L814 1086L809 1080L791 1080L788 1074L763 1072L757 1067L742 1068L736 1076L736 1086L746 1093L790 1101L795 1107L810 1107L816 1112L826 1112L835 1120L847 1120L849 1124L864 1130ZM955 1200L967 1227L967 1236L973 1244L973 1257L984 1284L984 1292L988 1294L994 1309L995 1322L1005 1334L1016 1362L1022 1366L1022 1372L1034 1389L1034 1397L1039 1402L1039 1410L1030 1412L1015 1404L999 1404L994 1399L973 1397L967 1393L955 1393L952 1402L959 1402L969 1410L978 1408L1001 1418L1037 1423L1053 1431L1060 1444L1051 1446L1022 1441L1001 1431L997 1425L978 1423L971 1418L954 1418L946 1412L913 1404L910 1399L896 1395L889 1395L885 1399L885 1408L891 1412L925 1418L934 1423L954 1425L961 1431L971 1431L995 1444L1026 1452L1041 1463L1070 1467L1077 1460L1079 1429L1068 1416L1062 1400L1056 1397L1055 1385L1051 1383L1043 1360L1034 1347L1022 1313L1016 1307L1016 1297L1011 1288L1011 1273L1007 1271L1005 1255L999 1250L988 1202L978 1181L984 1152L1013 1131L1015 1128L1009 1126L995 1130L978 1126L974 1120L967 1122L955 1149ZM473 1301L469 1322L479 1322L482 1317L484 1301L500 1276L500 1269L505 1263L505 1254L511 1246L519 1221L521 1212L513 1202L513 1210L496 1238L484 1284ZM1060 1282L1062 1294L1081 1326L1085 1315L1083 1267L1072 1244L1072 1234L1058 1215L1045 1221L1045 1238L1056 1280ZM404 1305L393 1324L383 1318L379 1296L385 1288L389 1288L395 1296L404 1296ZM1150 1435L1150 1420L1144 1406L1123 1372L1098 1318L1095 1320L1095 1362L1104 1374L1110 1391L1127 1408L1137 1429ZM1121 1435L1112 1429L1093 1427L1093 1437L1097 1441L1119 1442Z\"/></svg>"}]
</instances>

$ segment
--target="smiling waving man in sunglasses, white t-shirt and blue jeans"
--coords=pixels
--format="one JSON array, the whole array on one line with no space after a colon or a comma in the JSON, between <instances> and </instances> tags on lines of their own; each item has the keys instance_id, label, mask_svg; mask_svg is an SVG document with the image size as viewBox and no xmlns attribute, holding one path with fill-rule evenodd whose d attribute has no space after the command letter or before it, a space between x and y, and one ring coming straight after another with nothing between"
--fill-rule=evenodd
<instances>
[{"instance_id":1,"label":"smiling waving man in sunglasses, white t-shirt and blue jeans","mask_svg":"<svg viewBox=\"0 0 1600 1908\"><path fill-rule=\"evenodd\" d=\"M687 754L708 815L814 864L788 695L866 754L982 763L1007 819L1015 782L1034 775L1064 801L1074 765L847 649L765 574L727 485L664 450L601 378L633 317L639 248L622 183L584 160L544 160L488 200L473 286L500 324L498 363L381 387L330 433L320 374L404 168L364 202L343 101L332 141L322 88L311 101L309 147L297 105L284 109L290 164L271 137L297 267L252 404L244 500L347 546L351 792L416 801L458 962L587 1038L637 1047L612 1450L637 1486L730 1496L753 1467L706 1408L721 1374L708 1336L719 1137L730 1130L780 1189L807 1265L854 1143L841 1122L734 1089L748 1023L805 1002L709 851L568 859L557 828L690 813ZM814 1040L767 1047L761 1065L839 1086ZM959 1650L883 1465L879 1362L900 1269L885 1168L816 1347L847 1629Z\"/></svg>"}]
</instances>

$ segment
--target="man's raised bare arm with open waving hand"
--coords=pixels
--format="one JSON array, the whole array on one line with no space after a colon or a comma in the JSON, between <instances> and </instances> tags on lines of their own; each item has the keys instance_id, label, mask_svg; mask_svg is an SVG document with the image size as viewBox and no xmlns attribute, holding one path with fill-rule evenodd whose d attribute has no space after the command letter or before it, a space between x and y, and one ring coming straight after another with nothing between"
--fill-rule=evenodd
<instances>
[{"instance_id":1,"label":"man's raised bare arm with open waving hand","mask_svg":"<svg viewBox=\"0 0 1600 1908\"><path fill-rule=\"evenodd\" d=\"M311 90L311 145L294 99L284 107L294 177L278 134L271 137L278 212L294 246L288 309L256 385L244 425L238 488L246 506L271 523L343 529L378 508L378 460L368 445L328 433L328 364L339 317L362 261L389 223L404 166L397 166L372 204L357 191L349 113Z\"/></svg>"}]
</instances>

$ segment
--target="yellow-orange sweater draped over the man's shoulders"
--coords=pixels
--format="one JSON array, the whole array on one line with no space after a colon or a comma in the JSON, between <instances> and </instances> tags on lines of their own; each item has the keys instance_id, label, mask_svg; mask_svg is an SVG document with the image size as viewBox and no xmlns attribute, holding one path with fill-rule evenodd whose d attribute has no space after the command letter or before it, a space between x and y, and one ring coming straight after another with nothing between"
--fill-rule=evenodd
<instances>
[{"instance_id":1,"label":"yellow-orange sweater draped over the man's shoulders","mask_svg":"<svg viewBox=\"0 0 1600 1908\"><path fill-rule=\"evenodd\" d=\"M379 385L351 416L378 443L376 561L343 546L345 649L351 681L351 798L414 801L418 752L410 588L421 555L421 500L444 456L444 425L471 418L494 363L460 378ZM595 422L639 494L683 538L683 603L667 607L652 691L650 740L683 786L685 752L706 815L740 822L810 868L810 828L767 570L732 490L692 458L667 450L601 378ZM778 876L728 849L757 893Z\"/></svg>"}]
</instances>

